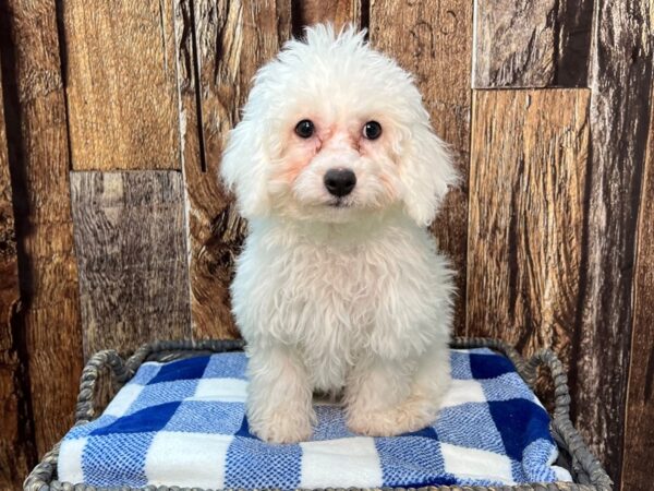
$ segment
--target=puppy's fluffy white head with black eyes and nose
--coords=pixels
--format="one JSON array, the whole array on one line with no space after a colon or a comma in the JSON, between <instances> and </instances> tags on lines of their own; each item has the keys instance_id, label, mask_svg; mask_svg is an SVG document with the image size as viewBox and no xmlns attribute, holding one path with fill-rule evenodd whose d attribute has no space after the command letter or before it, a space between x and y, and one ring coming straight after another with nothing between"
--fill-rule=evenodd
<instances>
[{"instance_id":1,"label":"puppy's fluffy white head with black eyes and nose","mask_svg":"<svg viewBox=\"0 0 654 491\"><path fill-rule=\"evenodd\" d=\"M257 72L221 175L246 218L343 223L396 207L420 225L457 180L411 76L364 33L329 25Z\"/></svg>"}]
</instances>

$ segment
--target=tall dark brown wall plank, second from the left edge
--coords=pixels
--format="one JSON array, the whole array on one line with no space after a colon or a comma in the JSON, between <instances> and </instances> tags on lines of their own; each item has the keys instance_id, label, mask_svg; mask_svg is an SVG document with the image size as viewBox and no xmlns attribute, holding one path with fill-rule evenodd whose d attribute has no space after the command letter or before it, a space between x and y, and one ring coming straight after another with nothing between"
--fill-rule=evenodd
<instances>
[{"instance_id":1,"label":"tall dark brown wall plank, second from the left edge","mask_svg":"<svg viewBox=\"0 0 654 491\"><path fill-rule=\"evenodd\" d=\"M69 152L55 3L2 3L2 83L24 338L36 447L73 422L82 371Z\"/></svg>"}]
</instances>

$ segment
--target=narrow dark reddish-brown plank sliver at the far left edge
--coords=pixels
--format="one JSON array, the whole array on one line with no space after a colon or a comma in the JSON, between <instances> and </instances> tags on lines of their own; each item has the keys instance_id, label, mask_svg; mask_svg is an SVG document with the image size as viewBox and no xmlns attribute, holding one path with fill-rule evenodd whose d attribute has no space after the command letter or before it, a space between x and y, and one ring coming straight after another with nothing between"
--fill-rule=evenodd
<instances>
[{"instance_id":1,"label":"narrow dark reddish-brown plank sliver at the far left edge","mask_svg":"<svg viewBox=\"0 0 654 491\"><path fill-rule=\"evenodd\" d=\"M0 489L19 489L29 469L22 360L14 334L19 309L19 265L12 208L7 132L0 92Z\"/></svg>"}]
</instances>

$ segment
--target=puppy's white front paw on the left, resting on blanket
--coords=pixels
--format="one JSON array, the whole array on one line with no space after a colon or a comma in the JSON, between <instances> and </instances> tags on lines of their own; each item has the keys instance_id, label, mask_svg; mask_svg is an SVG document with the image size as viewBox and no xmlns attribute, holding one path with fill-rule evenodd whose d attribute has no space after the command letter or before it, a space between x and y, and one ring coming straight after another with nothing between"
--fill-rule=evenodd
<instances>
[{"instance_id":1,"label":"puppy's white front paw on the left, resting on blanket","mask_svg":"<svg viewBox=\"0 0 654 491\"><path fill-rule=\"evenodd\" d=\"M311 416L278 409L262 420L250 421L250 430L268 443L298 443L311 439Z\"/></svg>"}]
</instances>

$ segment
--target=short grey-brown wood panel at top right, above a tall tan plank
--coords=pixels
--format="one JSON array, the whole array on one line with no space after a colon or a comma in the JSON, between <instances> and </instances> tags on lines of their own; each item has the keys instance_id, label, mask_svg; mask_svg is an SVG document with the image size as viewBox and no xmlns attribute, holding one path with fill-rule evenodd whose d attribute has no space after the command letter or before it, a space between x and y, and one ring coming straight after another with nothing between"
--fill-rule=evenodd
<instances>
[{"instance_id":1,"label":"short grey-brown wood panel at top right, above a tall tan plank","mask_svg":"<svg viewBox=\"0 0 654 491\"><path fill-rule=\"evenodd\" d=\"M474 86L585 85L592 0L477 0Z\"/></svg>"}]
</instances>

